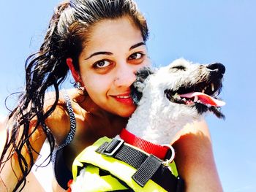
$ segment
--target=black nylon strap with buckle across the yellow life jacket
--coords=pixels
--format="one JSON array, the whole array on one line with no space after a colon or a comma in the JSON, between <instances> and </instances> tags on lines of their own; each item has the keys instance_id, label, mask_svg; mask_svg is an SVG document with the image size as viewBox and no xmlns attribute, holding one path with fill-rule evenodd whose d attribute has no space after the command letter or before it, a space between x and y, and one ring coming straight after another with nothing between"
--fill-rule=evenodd
<instances>
[{"instance_id":1,"label":"black nylon strap with buckle across the yellow life jacket","mask_svg":"<svg viewBox=\"0 0 256 192\"><path fill-rule=\"evenodd\" d=\"M122 142L121 145L120 142ZM113 146L117 147L115 148ZM113 151L111 151L110 148L114 153L112 153ZM105 151L105 149L108 149L108 151ZM142 187L151 179L162 186L162 188L165 188L166 191L180 192L180 189L182 189L181 185L183 185L183 180L181 180L180 177L175 177L170 172L170 169L162 164L162 161L159 158L154 155L148 156L140 150L129 147L129 145L126 145L122 140L113 139L110 143L105 142L96 150L96 152L105 155L112 153L110 156L113 158L124 161L130 166L135 167L135 169L138 169L132 178Z\"/></svg>"}]
</instances>

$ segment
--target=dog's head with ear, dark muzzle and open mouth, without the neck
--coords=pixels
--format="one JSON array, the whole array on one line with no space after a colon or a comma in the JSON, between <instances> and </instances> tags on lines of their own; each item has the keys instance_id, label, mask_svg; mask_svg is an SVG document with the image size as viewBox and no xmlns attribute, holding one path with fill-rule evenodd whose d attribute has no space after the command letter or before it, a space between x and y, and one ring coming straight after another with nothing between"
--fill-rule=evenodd
<instances>
[{"instance_id":1,"label":"dog's head with ear, dark muzzle and open mouth, without the neck","mask_svg":"<svg viewBox=\"0 0 256 192\"><path fill-rule=\"evenodd\" d=\"M171 104L192 107L198 114L210 111L218 118L225 118L220 112L225 102L217 98L222 90L224 73L222 64L191 64L184 59L173 61L155 72L144 68L133 83L132 99L139 104L144 91L157 92L159 98L165 97Z\"/></svg>"}]
</instances>

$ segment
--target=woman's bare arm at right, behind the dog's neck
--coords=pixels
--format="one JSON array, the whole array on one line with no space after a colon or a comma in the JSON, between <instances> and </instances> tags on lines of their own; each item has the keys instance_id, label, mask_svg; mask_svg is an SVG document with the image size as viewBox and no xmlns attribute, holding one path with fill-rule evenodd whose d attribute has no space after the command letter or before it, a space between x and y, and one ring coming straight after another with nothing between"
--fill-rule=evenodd
<instances>
[{"instance_id":1,"label":"woman's bare arm at right, behind the dog's neck","mask_svg":"<svg viewBox=\"0 0 256 192\"><path fill-rule=\"evenodd\" d=\"M191 123L182 129L173 147L176 149L176 165L185 180L186 191L222 191L205 121Z\"/></svg>"}]
</instances>

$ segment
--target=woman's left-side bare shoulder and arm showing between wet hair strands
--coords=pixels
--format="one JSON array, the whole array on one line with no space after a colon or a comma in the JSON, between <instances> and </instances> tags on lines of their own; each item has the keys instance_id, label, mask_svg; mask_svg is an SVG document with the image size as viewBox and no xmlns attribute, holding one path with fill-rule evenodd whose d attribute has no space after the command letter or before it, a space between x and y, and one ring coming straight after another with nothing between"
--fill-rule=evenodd
<instances>
[{"instance_id":1,"label":"woman's left-side bare shoulder and arm showing between wet hair strands","mask_svg":"<svg viewBox=\"0 0 256 192\"><path fill-rule=\"evenodd\" d=\"M48 93L45 95L45 111L48 111L49 108L53 105L55 101L55 95L53 93ZM10 125L12 125L12 120L9 120ZM29 131L34 130L35 126L37 124L37 119L34 118L33 120L29 121ZM61 95L61 98L59 98L58 104L55 108L55 110L48 116L48 118L45 120L46 126L50 129L50 133L53 134L53 137L55 139L56 145L59 145L67 137L67 134L69 133L70 129L70 123L69 123L69 115L66 111L66 104L64 101L63 96ZM7 124L4 123L2 125L0 130L0 155L2 153L2 150L4 149L5 140L7 138L6 134L6 127ZM10 126L11 127L11 126ZM19 128L20 133L23 133L23 126ZM42 149L42 145L44 144L46 139L45 132L43 131L43 128L41 126L38 126L36 131L29 137L29 142L33 149L37 151L37 153L40 152ZM18 138L17 138L18 140ZM32 151L34 151L32 150ZM26 145L23 145L22 147L22 155L24 158L26 158L26 162L29 163L29 153L28 148ZM33 159L34 162L37 160L37 154L36 152L33 152ZM7 157L8 151L4 158ZM17 154L12 155L12 158L6 162L6 164L0 164L0 191L13 191L13 188L15 188L15 185L18 183L18 179L21 178L23 175L20 166L18 164L18 158ZM33 166L33 165L32 165ZM42 168L43 169L43 168ZM50 183L49 183L50 185Z\"/></svg>"}]
</instances>

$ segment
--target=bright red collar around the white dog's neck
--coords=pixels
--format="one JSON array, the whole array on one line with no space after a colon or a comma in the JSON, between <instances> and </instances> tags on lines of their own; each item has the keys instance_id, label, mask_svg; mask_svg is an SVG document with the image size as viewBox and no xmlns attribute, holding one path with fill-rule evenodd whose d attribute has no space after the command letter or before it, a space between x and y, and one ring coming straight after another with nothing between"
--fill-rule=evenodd
<instances>
[{"instance_id":1,"label":"bright red collar around the white dog's neck","mask_svg":"<svg viewBox=\"0 0 256 192\"><path fill-rule=\"evenodd\" d=\"M140 137L136 137L135 134L130 133L126 128L122 129L120 137L129 145L138 147L146 153L155 155L162 160L165 160L167 152L170 150L170 147L157 145Z\"/></svg>"}]
</instances>

